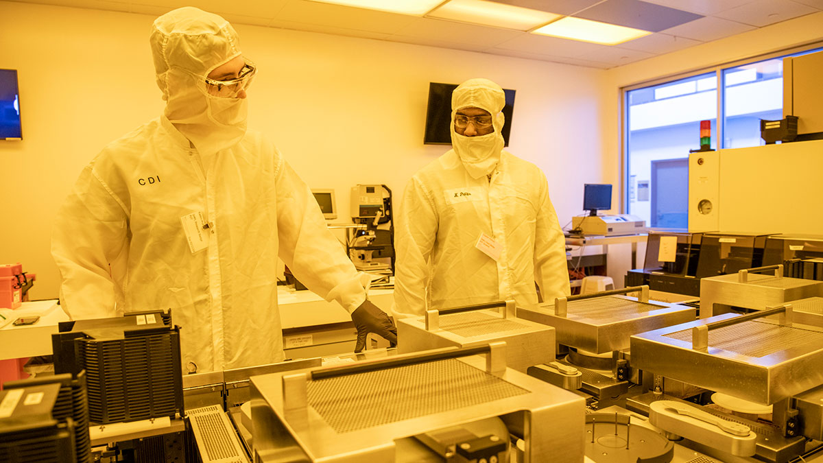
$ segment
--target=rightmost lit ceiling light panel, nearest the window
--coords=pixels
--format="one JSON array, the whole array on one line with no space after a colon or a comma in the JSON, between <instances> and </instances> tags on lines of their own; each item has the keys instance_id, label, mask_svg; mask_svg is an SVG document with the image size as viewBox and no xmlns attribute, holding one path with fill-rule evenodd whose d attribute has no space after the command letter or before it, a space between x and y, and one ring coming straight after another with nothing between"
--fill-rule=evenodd
<instances>
[{"instance_id":1,"label":"rightmost lit ceiling light panel, nearest the window","mask_svg":"<svg viewBox=\"0 0 823 463\"><path fill-rule=\"evenodd\" d=\"M540 29L532 30L535 34L551 35L563 39L580 40L595 44L616 45L649 35L648 30L639 30L625 26L615 26L600 21L589 21L579 17L566 16Z\"/></svg>"}]
</instances>

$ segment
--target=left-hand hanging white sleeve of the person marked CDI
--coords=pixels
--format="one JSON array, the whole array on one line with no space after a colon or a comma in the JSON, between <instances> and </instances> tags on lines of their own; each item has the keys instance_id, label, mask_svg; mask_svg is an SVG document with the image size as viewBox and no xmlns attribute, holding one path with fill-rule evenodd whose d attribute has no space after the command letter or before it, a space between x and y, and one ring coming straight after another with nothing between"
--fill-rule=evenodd
<instances>
[{"instance_id":1,"label":"left-hand hanging white sleeve of the person marked CDI","mask_svg":"<svg viewBox=\"0 0 823 463\"><path fill-rule=\"evenodd\" d=\"M83 169L58 211L51 250L61 306L72 320L119 315L115 302L123 288L114 283L111 265L128 250L128 216L93 165Z\"/></svg>"}]
</instances>

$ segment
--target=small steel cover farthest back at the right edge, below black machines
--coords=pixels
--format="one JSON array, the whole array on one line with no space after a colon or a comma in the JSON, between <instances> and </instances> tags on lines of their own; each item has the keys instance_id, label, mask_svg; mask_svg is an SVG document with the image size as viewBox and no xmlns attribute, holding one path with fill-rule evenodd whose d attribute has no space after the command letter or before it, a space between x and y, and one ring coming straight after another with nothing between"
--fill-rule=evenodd
<instances>
[{"instance_id":1,"label":"small steel cover farthest back at the right edge, below black machines","mask_svg":"<svg viewBox=\"0 0 823 463\"><path fill-rule=\"evenodd\" d=\"M771 275L760 274L770 270ZM732 307L761 310L815 296L823 296L823 281L784 277L782 264L742 269L700 281L700 318L727 313Z\"/></svg>"}]
</instances>

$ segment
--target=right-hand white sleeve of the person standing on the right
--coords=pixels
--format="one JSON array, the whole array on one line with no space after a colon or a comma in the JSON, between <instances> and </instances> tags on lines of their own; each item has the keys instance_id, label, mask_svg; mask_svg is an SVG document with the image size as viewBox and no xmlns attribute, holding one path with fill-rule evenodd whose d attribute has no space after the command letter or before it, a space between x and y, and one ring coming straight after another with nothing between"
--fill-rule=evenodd
<instances>
[{"instance_id":1,"label":"right-hand white sleeve of the person standing on the right","mask_svg":"<svg viewBox=\"0 0 823 463\"><path fill-rule=\"evenodd\" d=\"M549 199L545 176L542 181L534 240L534 278L540 286L543 302L553 302L556 297L569 296L571 289L565 236Z\"/></svg>"}]
</instances>

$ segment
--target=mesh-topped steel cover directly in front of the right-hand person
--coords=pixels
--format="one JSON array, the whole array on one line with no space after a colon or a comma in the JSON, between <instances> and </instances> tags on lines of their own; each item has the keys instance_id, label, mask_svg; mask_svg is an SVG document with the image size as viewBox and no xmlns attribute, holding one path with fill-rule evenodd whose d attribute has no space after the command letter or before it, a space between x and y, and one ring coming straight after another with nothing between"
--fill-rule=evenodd
<instances>
[{"instance_id":1,"label":"mesh-topped steel cover directly in front of the right-hand person","mask_svg":"<svg viewBox=\"0 0 823 463\"><path fill-rule=\"evenodd\" d=\"M500 308L502 313L492 309ZM555 330L515 316L514 301L426 311L398 320L398 353L505 341L506 365L518 372L555 359Z\"/></svg>"}]
</instances>

